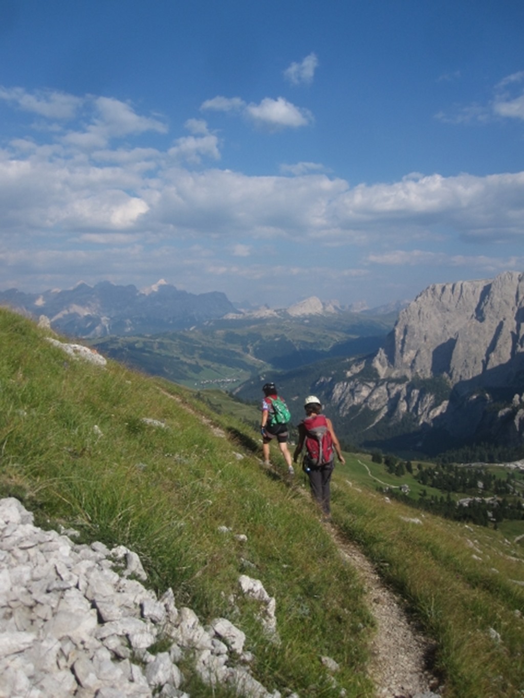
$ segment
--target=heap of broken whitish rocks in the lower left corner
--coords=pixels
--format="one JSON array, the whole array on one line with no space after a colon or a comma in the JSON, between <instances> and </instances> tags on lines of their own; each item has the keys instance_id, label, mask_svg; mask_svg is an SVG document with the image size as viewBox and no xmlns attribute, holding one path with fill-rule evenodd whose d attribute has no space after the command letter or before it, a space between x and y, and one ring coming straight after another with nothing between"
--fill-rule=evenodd
<instances>
[{"instance_id":1,"label":"heap of broken whitish rocks in the lower left corner","mask_svg":"<svg viewBox=\"0 0 524 698\"><path fill-rule=\"evenodd\" d=\"M37 528L18 500L0 500L0 698L189 698L188 671L238 695L280 697L252 676L245 634L227 618L204 626L173 591L157 598L138 581L147 578L132 551L66 533L75 535ZM278 641L275 599L246 575L239 593L260 602Z\"/></svg>"}]
</instances>

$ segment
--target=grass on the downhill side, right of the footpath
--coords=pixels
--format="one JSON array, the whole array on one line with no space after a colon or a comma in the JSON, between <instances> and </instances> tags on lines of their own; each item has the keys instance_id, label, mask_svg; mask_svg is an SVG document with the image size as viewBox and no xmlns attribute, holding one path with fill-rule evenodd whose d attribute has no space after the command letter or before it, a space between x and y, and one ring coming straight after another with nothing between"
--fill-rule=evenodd
<instances>
[{"instance_id":1,"label":"grass on the downhill side, right of the footpath","mask_svg":"<svg viewBox=\"0 0 524 698\"><path fill-rule=\"evenodd\" d=\"M337 482L333 510L437 639L446 695L520 696L524 560L495 530L420 514ZM521 581L521 584L518 584Z\"/></svg>"}]
</instances>

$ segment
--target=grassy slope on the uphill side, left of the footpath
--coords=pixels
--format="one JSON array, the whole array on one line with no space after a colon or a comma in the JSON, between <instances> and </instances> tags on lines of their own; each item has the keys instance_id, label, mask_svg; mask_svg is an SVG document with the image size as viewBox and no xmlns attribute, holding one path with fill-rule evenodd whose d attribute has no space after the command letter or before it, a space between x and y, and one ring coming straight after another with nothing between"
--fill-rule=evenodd
<instances>
[{"instance_id":1,"label":"grassy slope on the uphill side, left of the footpath","mask_svg":"<svg viewBox=\"0 0 524 698\"><path fill-rule=\"evenodd\" d=\"M268 688L372 695L372 618L354 570L300 492L260 467L241 426L224 419L233 438L219 436L198 401L184 406L187 391L172 386L169 396L117 364L71 359L7 311L0 342L1 496L18 496L40 525L127 545L150 584L172 587L203 622L230 618ZM278 642L242 597L240 574L276 598ZM321 655L341 666L337 688Z\"/></svg>"}]
</instances>

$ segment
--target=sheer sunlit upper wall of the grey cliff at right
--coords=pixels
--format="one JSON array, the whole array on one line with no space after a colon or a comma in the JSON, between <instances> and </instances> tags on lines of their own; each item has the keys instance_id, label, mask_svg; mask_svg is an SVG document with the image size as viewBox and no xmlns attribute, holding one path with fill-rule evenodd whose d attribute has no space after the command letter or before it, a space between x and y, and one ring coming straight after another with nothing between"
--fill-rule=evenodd
<instances>
[{"instance_id":1,"label":"sheer sunlit upper wall of the grey cliff at right","mask_svg":"<svg viewBox=\"0 0 524 698\"><path fill-rule=\"evenodd\" d=\"M523 274L433 284L400 312L385 350L388 374L446 376L451 385L478 378L523 357L523 320Z\"/></svg>"}]
</instances>

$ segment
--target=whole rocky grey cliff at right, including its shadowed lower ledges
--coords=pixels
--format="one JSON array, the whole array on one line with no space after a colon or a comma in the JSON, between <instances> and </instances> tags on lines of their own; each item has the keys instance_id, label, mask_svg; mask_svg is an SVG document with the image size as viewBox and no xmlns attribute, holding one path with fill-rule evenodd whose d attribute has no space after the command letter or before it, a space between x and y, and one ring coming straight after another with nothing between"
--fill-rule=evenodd
<instances>
[{"instance_id":1,"label":"whole rocky grey cliff at right, including its shadowed lower ledges","mask_svg":"<svg viewBox=\"0 0 524 698\"><path fill-rule=\"evenodd\" d=\"M386 346L346 376L314 386L365 438L402 432L421 446L430 429L442 450L497 433L522 443L524 403L524 274L434 284L404 309ZM497 403L504 403L497 406ZM499 408L500 407L500 408Z\"/></svg>"}]
</instances>

